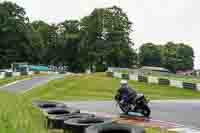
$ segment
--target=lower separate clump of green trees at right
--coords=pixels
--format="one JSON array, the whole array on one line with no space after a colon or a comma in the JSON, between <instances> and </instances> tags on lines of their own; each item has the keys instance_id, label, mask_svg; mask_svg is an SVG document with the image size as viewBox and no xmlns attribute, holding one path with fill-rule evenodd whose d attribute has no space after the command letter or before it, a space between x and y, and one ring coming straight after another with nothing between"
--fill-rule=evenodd
<instances>
[{"instance_id":1,"label":"lower separate clump of green trees at right","mask_svg":"<svg viewBox=\"0 0 200 133\"><path fill-rule=\"evenodd\" d=\"M165 67L172 72L193 69L193 61L192 47L183 43L168 42L165 45L146 43L139 51L141 66Z\"/></svg>"}]
</instances>

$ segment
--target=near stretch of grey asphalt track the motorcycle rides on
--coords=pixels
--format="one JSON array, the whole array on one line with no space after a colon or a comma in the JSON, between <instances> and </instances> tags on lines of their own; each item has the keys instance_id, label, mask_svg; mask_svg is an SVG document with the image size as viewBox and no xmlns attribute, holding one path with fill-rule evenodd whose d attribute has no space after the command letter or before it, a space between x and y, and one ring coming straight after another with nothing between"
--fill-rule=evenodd
<instances>
[{"instance_id":1,"label":"near stretch of grey asphalt track the motorcycle rides on","mask_svg":"<svg viewBox=\"0 0 200 133\"><path fill-rule=\"evenodd\" d=\"M120 114L120 109L112 101L66 102L69 106L94 112ZM151 102L152 119L200 128L200 101Z\"/></svg>"}]
</instances>

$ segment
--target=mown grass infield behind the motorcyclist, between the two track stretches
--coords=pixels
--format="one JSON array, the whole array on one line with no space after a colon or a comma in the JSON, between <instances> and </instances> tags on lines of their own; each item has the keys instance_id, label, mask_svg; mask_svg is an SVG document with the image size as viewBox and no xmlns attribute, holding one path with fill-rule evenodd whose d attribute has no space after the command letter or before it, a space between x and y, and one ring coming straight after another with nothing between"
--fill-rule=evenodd
<instances>
[{"instance_id":1,"label":"mown grass infield behind the motorcyclist, between the two track stretches","mask_svg":"<svg viewBox=\"0 0 200 133\"><path fill-rule=\"evenodd\" d=\"M200 93L169 86L129 81L130 86L150 99L199 99ZM104 74L66 77L35 88L24 97L48 100L112 100L119 87L119 79Z\"/></svg>"}]
</instances>

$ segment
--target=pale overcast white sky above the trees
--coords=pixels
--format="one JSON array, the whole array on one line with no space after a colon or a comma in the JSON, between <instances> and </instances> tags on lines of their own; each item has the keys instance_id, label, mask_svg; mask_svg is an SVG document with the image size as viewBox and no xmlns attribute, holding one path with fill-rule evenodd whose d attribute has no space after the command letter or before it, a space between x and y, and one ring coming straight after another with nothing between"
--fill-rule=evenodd
<instances>
[{"instance_id":1,"label":"pale overcast white sky above the trees","mask_svg":"<svg viewBox=\"0 0 200 133\"><path fill-rule=\"evenodd\" d=\"M94 8L117 5L134 23L135 48L142 43L184 42L194 48L200 69L199 0L10 0L26 9L31 20L58 23L80 19Z\"/></svg>"}]
</instances>

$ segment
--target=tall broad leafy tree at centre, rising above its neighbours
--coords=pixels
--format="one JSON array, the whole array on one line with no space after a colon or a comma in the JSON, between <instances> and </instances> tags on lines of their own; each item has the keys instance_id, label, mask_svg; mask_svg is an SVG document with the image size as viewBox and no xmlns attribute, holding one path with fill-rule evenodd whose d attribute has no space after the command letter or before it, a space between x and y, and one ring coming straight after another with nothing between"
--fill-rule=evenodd
<instances>
[{"instance_id":1,"label":"tall broad leafy tree at centre, rising above its neighbours","mask_svg":"<svg viewBox=\"0 0 200 133\"><path fill-rule=\"evenodd\" d=\"M131 22L121 8L95 9L81 20L81 28L86 33L86 56L91 69L97 64L104 67L135 64L136 53L129 37Z\"/></svg>"}]
</instances>

